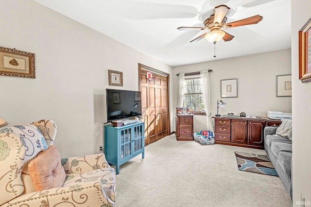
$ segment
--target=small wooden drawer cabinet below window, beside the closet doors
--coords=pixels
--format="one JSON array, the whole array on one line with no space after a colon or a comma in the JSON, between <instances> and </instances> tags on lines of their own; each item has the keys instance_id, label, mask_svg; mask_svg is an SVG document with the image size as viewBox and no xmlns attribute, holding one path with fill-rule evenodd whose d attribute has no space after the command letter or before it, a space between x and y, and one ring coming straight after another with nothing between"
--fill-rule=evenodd
<instances>
[{"instance_id":1,"label":"small wooden drawer cabinet below window, beside the closet doors","mask_svg":"<svg viewBox=\"0 0 311 207\"><path fill-rule=\"evenodd\" d=\"M193 115L176 115L176 139L193 140Z\"/></svg>"}]
</instances>

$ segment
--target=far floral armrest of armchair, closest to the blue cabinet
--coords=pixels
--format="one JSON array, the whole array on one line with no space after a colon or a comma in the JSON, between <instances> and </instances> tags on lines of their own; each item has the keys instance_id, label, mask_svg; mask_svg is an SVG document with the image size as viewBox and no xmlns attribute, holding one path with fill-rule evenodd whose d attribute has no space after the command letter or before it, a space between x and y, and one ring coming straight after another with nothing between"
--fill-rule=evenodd
<instances>
[{"instance_id":1,"label":"far floral armrest of armchair, closest to the blue cabinet","mask_svg":"<svg viewBox=\"0 0 311 207\"><path fill-rule=\"evenodd\" d=\"M111 168L103 153L61 159L66 173L84 173L101 168Z\"/></svg>"}]
</instances>

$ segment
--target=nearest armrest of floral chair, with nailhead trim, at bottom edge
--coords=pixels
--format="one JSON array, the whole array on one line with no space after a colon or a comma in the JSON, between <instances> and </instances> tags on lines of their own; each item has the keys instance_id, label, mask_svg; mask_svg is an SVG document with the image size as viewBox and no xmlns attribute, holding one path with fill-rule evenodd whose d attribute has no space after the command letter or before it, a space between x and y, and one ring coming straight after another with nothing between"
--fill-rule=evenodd
<instances>
[{"instance_id":1,"label":"nearest armrest of floral chair, with nailhead trim, at bottom edge","mask_svg":"<svg viewBox=\"0 0 311 207\"><path fill-rule=\"evenodd\" d=\"M115 203L101 190L101 182L80 183L74 186L41 190L23 194L0 207L114 207Z\"/></svg>"}]
</instances>

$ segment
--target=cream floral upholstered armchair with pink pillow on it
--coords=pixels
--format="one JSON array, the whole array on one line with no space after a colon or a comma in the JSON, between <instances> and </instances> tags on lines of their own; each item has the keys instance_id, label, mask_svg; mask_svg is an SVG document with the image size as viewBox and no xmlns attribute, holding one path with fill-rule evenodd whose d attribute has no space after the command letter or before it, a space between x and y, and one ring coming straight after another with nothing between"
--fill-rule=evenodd
<instances>
[{"instance_id":1,"label":"cream floral upholstered armchair with pink pillow on it","mask_svg":"<svg viewBox=\"0 0 311 207\"><path fill-rule=\"evenodd\" d=\"M113 207L116 179L104 154L61 159L52 120L0 130L0 207Z\"/></svg>"}]
</instances>

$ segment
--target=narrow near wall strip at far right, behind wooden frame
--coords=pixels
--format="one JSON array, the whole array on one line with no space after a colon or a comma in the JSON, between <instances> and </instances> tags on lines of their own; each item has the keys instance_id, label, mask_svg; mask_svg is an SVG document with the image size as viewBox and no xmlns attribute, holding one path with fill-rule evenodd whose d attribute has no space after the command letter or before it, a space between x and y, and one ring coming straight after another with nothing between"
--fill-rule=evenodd
<instances>
[{"instance_id":1,"label":"narrow near wall strip at far right, behind wooden frame","mask_svg":"<svg viewBox=\"0 0 311 207\"><path fill-rule=\"evenodd\" d=\"M296 201L300 201L300 193L311 205L311 82L303 84L298 80L298 31L310 19L310 11L311 1L292 0L294 206L299 206Z\"/></svg>"}]
</instances>

